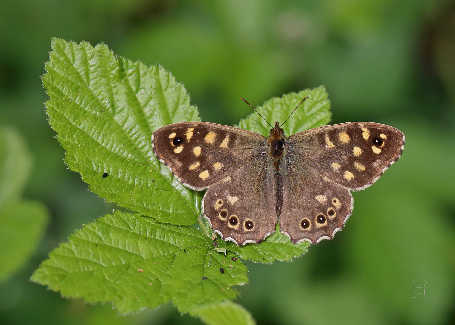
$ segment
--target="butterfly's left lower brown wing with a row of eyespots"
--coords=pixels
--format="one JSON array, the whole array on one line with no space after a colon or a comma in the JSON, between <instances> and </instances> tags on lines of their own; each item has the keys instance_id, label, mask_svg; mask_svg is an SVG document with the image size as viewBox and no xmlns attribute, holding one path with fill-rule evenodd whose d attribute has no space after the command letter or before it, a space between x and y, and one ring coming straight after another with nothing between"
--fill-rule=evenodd
<instances>
[{"instance_id":1,"label":"butterfly's left lower brown wing with a row of eyespots","mask_svg":"<svg viewBox=\"0 0 455 325\"><path fill-rule=\"evenodd\" d=\"M202 211L223 240L239 246L258 244L275 232L272 171L267 157L259 155L209 186L202 200Z\"/></svg>"}]
</instances>

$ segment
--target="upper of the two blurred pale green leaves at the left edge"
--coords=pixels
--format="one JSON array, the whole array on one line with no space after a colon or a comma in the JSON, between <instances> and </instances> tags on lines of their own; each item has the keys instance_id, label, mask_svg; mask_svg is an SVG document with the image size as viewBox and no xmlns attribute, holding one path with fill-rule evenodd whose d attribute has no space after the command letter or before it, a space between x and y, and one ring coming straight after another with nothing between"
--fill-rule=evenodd
<instances>
[{"instance_id":1,"label":"upper of the two blurred pale green leaves at the left edge","mask_svg":"<svg viewBox=\"0 0 455 325\"><path fill-rule=\"evenodd\" d=\"M0 206L20 198L31 166L31 154L20 134L8 127L0 128Z\"/></svg>"}]
</instances>

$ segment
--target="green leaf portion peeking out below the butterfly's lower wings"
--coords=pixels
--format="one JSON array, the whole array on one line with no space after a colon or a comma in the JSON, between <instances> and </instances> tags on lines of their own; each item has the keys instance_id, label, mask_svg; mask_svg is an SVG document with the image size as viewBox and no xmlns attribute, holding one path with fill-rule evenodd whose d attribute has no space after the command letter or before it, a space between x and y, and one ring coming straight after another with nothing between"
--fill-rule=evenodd
<instances>
[{"instance_id":1,"label":"green leaf portion peeking out below the butterfly's lower wings","mask_svg":"<svg viewBox=\"0 0 455 325\"><path fill-rule=\"evenodd\" d=\"M272 264L275 259L288 262L308 253L310 244L301 242L293 244L286 235L279 231L279 223L275 227L275 234L268 236L261 244L246 244L238 247L233 242L218 241L219 247L237 254L244 260Z\"/></svg>"}]
</instances>

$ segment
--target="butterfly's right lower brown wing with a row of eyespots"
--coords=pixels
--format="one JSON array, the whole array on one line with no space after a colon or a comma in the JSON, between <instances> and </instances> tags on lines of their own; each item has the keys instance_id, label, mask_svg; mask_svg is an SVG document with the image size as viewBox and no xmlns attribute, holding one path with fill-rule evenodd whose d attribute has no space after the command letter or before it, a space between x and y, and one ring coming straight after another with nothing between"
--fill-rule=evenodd
<instances>
[{"instance_id":1,"label":"butterfly's right lower brown wing with a row of eyespots","mask_svg":"<svg viewBox=\"0 0 455 325\"><path fill-rule=\"evenodd\" d=\"M294 244L332 239L352 213L349 190L292 155L286 157L282 172L280 230Z\"/></svg>"}]
</instances>

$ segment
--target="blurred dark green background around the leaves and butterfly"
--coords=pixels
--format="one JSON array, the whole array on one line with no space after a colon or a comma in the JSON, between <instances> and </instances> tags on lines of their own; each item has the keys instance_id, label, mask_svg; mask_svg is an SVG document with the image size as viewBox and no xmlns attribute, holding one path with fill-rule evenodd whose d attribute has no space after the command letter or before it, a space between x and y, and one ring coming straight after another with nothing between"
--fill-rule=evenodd
<instances>
[{"instance_id":1,"label":"blurred dark green background around the leaves and butterfly","mask_svg":"<svg viewBox=\"0 0 455 325\"><path fill-rule=\"evenodd\" d=\"M1 0L0 126L34 157L24 197L51 212L33 256L0 283L1 324L200 324L170 304L118 317L28 282L74 229L114 208L66 169L46 122L52 36L163 65L203 121L246 117L240 96L260 105L324 84L332 123L399 128L402 158L354 193L346 228L293 263L248 263L238 302L258 324L455 324L453 0ZM412 297L412 281L427 282L426 298Z\"/></svg>"}]
</instances>

